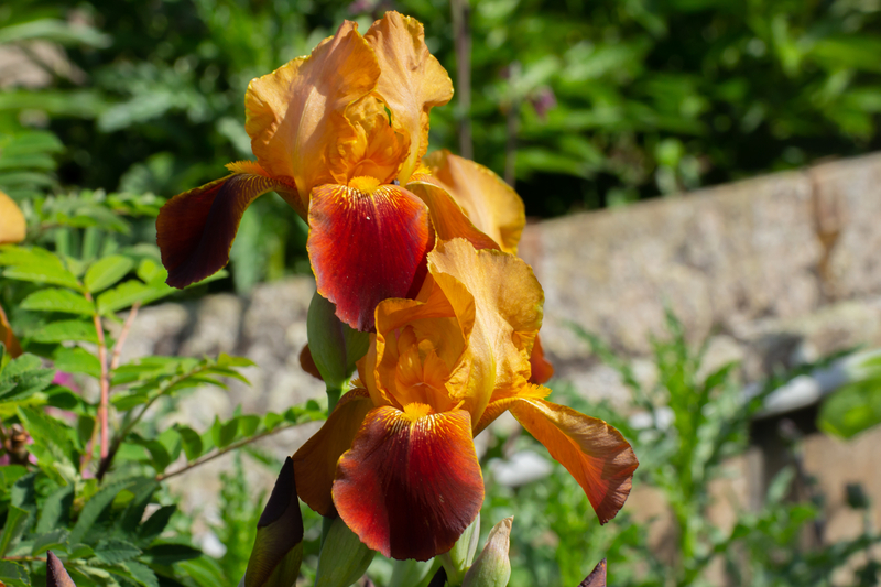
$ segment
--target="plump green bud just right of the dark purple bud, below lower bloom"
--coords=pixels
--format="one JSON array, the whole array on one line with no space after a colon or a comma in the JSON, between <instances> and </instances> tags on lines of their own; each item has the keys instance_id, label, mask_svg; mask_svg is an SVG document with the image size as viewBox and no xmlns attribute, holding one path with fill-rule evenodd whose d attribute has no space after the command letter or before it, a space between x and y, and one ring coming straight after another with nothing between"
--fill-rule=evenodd
<instances>
[{"instance_id":1,"label":"plump green bud just right of the dark purple bud, below lower bloom","mask_svg":"<svg viewBox=\"0 0 881 587\"><path fill-rule=\"evenodd\" d=\"M349 530L341 518L337 518L318 555L315 587L349 587L367 573L376 554Z\"/></svg>"}]
</instances>

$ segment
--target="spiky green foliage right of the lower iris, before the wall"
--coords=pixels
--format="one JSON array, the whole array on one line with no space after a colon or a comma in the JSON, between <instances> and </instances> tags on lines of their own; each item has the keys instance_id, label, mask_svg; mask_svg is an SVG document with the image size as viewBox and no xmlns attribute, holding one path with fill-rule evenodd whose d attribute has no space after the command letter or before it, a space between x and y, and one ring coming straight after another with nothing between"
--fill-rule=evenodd
<instances>
[{"instance_id":1,"label":"spiky green foliage right of the lower iris, before the wall","mask_svg":"<svg viewBox=\"0 0 881 587\"><path fill-rule=\"evenodd\" d=\"M488 476L481 517L515 517L511 587L578 585L603 557L616 585L704 585L714 562L721 563L730 585L831 585L833 574L847 566L856 568L852 585L874 585L877 564L871 556L859 562L881 541L871 524L853 540L805 548L805 532L813 533L823 514L814 502L787 499L794 482L792 467L771 482L758 511L736 506L737 519L730 529L709 521L710 482L728 475L726 459L746 449L750 416L771 391L811 367L772 378L744 403L736 366L707 371L706 344L692 350L672 315L667 326L667 338L653 341L657 378L649 388L639 383L624 359L576 327L595 354L619 371L632 393L633 407L645 416L644 425L634 427L620 409L591 405L570 390L557 390L567 405L608 421L631 442L640 457L634 487L653 488L666 512L659 518L673 524L664 547L650 545L646 535L646 524L660 521L638 523L628 507L599 526L584 491L559 465L541 480L515 489L494 483ZM541 454L543 448L531 437L512 442L499 436L491 439L486 458L507 458L520 450ZM866 500L853 503L868 508Z\"/></svg>"}]
</instances>

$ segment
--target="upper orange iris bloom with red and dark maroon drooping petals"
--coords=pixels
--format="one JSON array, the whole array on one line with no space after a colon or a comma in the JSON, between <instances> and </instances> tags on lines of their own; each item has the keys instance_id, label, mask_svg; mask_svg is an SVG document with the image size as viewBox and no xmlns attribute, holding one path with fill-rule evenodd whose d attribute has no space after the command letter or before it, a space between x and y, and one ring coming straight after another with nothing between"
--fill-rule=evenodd
<instances>
[{"instance_id":1,"label":"upper orange iris bloom with red and dark maroon drooping petals","mask_svg":"<svg viewBox=\"0 0 881 587\"><path fill-rule=\"evenodd\" d=\"M168 284L183 287L222 268L244 209L270 191L307 219L318 292L360 330L373 327L380 301L418 292L436 235L515 243L519 230L499 235L499 244L478 235L463 206L424 182L428 112L452 96L422 24L398 12L363 36L347 21L309 56L253 79L244 128L257 161L230 163L230 175L175 196L160 213ZM522 217L519 206L513 214ZM442 235L446 228L454 233Z\"/></svg>"}]
</instances>

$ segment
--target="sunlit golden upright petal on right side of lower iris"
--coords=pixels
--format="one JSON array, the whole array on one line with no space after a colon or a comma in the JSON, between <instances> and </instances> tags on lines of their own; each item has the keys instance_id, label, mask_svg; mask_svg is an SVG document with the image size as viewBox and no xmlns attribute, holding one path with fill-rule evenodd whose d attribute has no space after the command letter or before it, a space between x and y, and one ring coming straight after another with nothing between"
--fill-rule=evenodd
<instances>
[{"instance_id":1,"label":"sunlit golden upright petal on right side of lower iris","mask_svg":"<svg viewBox=\"0 0 881 587\"><path fill-rule=\"evenodd\" d=\"M475 250L464 239L438 244L428 256L428 267L438 285L449 292L454 307L460 298L454 292L461 286L474 296L470 360L461 363L459 399L477 422L493 394L526 384L544 293L523 260L497 250Z\"/></svg>"}]
</instances>

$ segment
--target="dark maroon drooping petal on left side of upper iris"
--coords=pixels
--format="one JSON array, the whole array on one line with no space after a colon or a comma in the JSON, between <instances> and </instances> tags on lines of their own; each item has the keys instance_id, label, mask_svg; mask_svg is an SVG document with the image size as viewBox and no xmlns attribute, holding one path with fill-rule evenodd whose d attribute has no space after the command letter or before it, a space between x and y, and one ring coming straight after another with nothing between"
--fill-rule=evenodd
<instances>
[{"instance_id":1,"label":"dark maroon drooping petal on left side of upper iris","mask_svg":"<svg viewBox=\"0 0 881 587\"><path fill-rule=\"evenodd\" d=\"M156 218L156 243L168 285L185 287L220 271L244 209L282 187L265 175L232 174L166 202Z\"/></svg>"}]
</instances>

